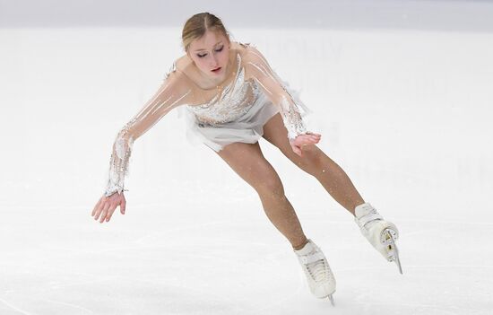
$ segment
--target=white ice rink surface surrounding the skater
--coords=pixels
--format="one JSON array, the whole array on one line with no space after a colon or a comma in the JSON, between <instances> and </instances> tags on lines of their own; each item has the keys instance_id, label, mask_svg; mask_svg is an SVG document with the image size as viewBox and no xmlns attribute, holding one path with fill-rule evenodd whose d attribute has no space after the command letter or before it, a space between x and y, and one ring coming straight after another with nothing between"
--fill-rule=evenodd
<instances>
[{"instance_id":1,"label":"white ice rink surface surrounding the skater","mask_svg":"<svg viewBox=\"0 0 493 315\"><path fill-rule=\"evenodd\" d=\"M410 2L386 5L399 3ZM426 1L412 3L419 17ZM486 1L437 2L441 17L454 21L445 9L459 3L461 21L490 13L493 24ZM404 275L261 141L337 279L335 307L312 297L255 191L186 140L177 111L134 144L126 214L94 222L113 140L182 54L181 24L4 26L0 314L493 314L493 28L220 17L301 91L319 146L400 228Z\"/></svg>"}]
</instances>

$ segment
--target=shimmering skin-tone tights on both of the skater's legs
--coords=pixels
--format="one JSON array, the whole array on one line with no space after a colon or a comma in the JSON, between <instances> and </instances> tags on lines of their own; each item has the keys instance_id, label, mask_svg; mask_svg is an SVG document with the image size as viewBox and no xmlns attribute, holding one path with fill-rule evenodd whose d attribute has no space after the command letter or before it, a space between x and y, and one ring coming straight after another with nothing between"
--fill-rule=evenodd
<instances>
[{"instance_id":1,"label":"shimmering skin-tone tights on both of the skater's legs","mask_svg":"<svg viewBox=\"0 0 493 315\"><path fill-rule=\"evenodd\" d=\"M264 138L281 150L291 162L314 176L341 206L354 215L354 208L365 201L359 195L348 175L316 145L307 145L303 157L291 149L282 118L276 114L264 125ZM274 226L290 241L293 249L301 249L307 237L298 216L284 195L281 179L264 158L258 143L226 145L219 153L221 158L255 189L264 212Z\"/></svg>"}]
</instances>

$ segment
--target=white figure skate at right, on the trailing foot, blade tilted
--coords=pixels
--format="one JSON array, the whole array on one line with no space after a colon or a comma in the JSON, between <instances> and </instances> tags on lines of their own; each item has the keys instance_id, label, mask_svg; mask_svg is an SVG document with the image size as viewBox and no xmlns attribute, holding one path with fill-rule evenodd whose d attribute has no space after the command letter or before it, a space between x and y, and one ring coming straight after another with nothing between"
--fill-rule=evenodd
<instances>
[{"instance_id":1,"label":"white figure skate at right, on the trailing foot, blade tilted","mask_svg":"<svg viewBox=\"0 0 493 315\"><path fill-rule=\"evenodd\" d=\"M354 221L359 225L359 230L367 238L373 247L388 261L394 261L402 274L399 250L395 241L399 238L399 231L394 223L384 220L384 217L370 204L357 206L354 210Z\"/></svg>"}]
</instances>

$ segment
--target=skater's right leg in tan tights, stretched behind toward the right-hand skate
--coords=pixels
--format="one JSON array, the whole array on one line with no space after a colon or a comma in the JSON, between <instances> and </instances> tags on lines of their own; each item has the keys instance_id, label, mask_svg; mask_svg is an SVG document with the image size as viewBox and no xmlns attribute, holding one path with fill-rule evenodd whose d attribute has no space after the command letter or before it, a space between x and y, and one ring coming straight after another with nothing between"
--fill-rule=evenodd
<instances>
[{"instance_id":1,"label":"skater's right leg in tan tights, stretched behind toward the right-hand skate","mask_svg":"<svg viewBox=\"0 0 493 315\"><path fill-rule=\"evenodd\" d=\"M318 179L335 201L351 214L354 215L356 206L365 203L348 175L316 145L303 148L302 158L292 151L288 132L282 123L280 114L276 114L264 125L264 138L277 146L301 170Z\"/></svg>"}]
</instances>

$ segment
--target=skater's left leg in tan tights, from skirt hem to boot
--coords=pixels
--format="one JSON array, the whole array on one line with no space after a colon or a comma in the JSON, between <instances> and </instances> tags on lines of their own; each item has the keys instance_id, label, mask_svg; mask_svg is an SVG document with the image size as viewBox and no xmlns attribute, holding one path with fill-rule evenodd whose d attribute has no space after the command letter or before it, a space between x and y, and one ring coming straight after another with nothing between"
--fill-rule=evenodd
<instances>
[{"instance_id":1,"label":"skater's left leg in tan tights, from skirt hem to boot","mask_svg":"<svg viewBox=\"0 0 493 315\"><path fill-rule=\"evenodd\" d=\"M265 214L275 227L290 241L294 249L307 243L293 206L284 196L284 188L277 172L265 160L260 146L234 143L226 145L219 153L221 158L255 189L264 206Z\"/></svg>"}]
</instances>

